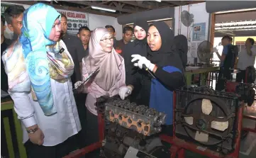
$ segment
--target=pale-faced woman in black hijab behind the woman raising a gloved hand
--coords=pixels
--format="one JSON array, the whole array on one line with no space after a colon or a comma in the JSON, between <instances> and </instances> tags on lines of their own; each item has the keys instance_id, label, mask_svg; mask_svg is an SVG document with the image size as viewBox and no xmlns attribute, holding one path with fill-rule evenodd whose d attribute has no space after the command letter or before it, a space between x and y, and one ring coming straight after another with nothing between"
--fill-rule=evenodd
<instances>
[{"instance_id":1,"label":"pale-faced woman in black hijab behind the woman raising a gloved hand","mask_svg":"<svg viewBox=\"0 0 256 158\"><path fill-rule=\"evenodd\" d=\"M133 25L133 33L136 39L132 43L126 44L122 52L126 67L126 85L128 86L119 91L119 96L124 99L126 96L131 94L131 91L133 91L130 96L130 101L134 101L136 103L140 103L139 98L142 74L147 74L147 72L142 69L138 69L138 67L134 67L130 60L132 60L131 55L141 55L144 57L148 55L147 32L148 23L146 21L135 22Z\"/></svg>"}]
</instances>

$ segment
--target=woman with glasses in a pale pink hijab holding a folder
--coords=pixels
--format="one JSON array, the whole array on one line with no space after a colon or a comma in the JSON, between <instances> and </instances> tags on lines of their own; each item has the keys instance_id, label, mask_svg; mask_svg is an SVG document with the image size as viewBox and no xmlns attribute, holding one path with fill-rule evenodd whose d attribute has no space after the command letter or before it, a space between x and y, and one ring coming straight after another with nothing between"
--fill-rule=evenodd
<instances>
[{"instance_id":1,"label":"woman with glasses in a pale pink hijab holding a folder","mask_svg":"<svg viewBox=\"0 0 256 158\"><path fill-rule=\"evenodd\" d=\"M116 96L126 89L126 71L123 57L113 49L114 37L106 28L96 28L91 33L89 55L83 58L82 76L88 77L99 67L99 72L84 84L87 94L87 145L99 141L96 98Z\"/></svg>"}]
</instances>

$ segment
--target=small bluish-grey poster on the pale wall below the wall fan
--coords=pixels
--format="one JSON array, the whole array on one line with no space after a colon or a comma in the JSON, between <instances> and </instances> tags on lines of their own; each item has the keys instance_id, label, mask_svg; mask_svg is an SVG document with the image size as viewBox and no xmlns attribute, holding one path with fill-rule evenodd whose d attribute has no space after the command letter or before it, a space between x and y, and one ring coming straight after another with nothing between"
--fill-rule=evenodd
<instances>
[{"instance_id":1,"label":"small bluish-grey poster on the pale wall below the wall fan","mask_svg":"<svg viewBox=\"0 0 256 158\"><path fill-rule=\"evenodd\" d=\"M193 41L206 40L206 23L194 23L193 25Z\"/></svg>"}]
</instances>

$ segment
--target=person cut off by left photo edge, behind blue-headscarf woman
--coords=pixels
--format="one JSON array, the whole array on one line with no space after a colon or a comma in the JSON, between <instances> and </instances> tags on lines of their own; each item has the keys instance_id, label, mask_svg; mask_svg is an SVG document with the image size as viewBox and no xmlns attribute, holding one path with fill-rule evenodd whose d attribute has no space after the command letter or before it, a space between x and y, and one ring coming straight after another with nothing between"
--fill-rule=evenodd
<instances>
[{"instance_id":1,"label":"person cut off by left photo edge, behind blue-headscarf woman","mask_svg":"<svg viewBox=\"0 0 256 158\"><path fill-rule=\"evenodd\" d=\"M4 23L4 16L1 16L1 56L3 55L4 50L11 45L11 40L4 38L4 30L6 29ZM8 91L8 89L8 77L4 70L4 62L1 60L1 90Z\"/></svg>"}]
</instances>

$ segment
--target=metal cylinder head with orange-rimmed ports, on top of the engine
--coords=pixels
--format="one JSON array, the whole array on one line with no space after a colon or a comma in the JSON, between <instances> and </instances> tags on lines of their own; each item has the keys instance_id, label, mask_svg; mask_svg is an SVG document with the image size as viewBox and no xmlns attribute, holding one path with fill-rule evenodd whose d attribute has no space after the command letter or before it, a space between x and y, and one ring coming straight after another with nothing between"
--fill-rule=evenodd
<instances>
[{"instance_id":1,"label":"metal cylinder head with orange-rimmed ports, on top of the engine","mask_svg":"<svg viewBox=\"0 0 256 158\"><path fill-rule=\"evenodd\" d=\"M130 103L129 100L122 101L117 96L108 98L104 107L107 120L145 136L161 132L161 125L165 124L165 113L147 106L138 106L136 103Z\"/></svg>"}]
</instances>

